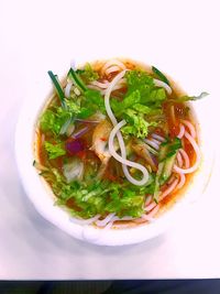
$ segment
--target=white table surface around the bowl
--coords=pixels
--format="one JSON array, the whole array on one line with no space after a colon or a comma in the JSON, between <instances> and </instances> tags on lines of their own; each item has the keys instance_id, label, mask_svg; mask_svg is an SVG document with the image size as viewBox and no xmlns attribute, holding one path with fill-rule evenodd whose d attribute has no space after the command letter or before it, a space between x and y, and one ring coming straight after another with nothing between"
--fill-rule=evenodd
<instances>
[{"instance_id":1,"label":"white table surface around the bowl","mask_svg":"<svg viewBox=\"0 0 220 294\"><path fill-rule=\"evenodd\" d=\"M190 74L183 83L218 95L218 106L219 8L211 0L1 1L0 279L220 277L218 149L210 184L186 219L153 240L121 248L82 243L44 220L20 184L13 150L30 85L72 57L144 53L161 68L172 62L170 74L199 75L202 89Z\"/></svg>"}]
</instances>

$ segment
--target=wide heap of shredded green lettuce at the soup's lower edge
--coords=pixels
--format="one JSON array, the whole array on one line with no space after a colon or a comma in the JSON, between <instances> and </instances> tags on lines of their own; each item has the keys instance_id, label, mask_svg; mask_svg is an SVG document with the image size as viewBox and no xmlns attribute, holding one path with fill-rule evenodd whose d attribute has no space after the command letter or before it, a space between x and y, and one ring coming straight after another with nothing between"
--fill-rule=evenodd
<instances>
[{"instance_id":1,"label":"wide heap of shredded green lettuce at the soup's lower edge","mask_svg":"<svg viewBox=\"0 0 220 294\"><path fill-rule=\"evenodd\" d=\"M154 190L153 177L147 186L134 186L128 181L123 184L109 181L92 181L89 185L85 182L66 183L56 168L51 168L44 174L57 195L58 205L73 200L75 208L70 208L74 216L89 218L100 214L102 216L114 213L119 217L141 217L144 213L145 195Z\"/></svg>"}]
</instances>

